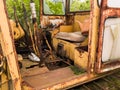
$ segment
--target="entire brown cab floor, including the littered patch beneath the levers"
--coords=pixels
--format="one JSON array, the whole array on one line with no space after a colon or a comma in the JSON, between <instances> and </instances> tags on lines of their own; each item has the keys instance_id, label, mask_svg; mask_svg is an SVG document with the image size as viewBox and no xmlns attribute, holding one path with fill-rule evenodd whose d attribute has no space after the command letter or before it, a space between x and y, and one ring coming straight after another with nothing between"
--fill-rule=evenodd
<instances>
[{"instance_id":1,"label":"entire brown cab floor, including the littered patch beneath the levers","mask_svg":"<svg viewBox=\"0 0 120 90\"><path fill-rule=\"evenodd\" d=\"M37 66L38 63L32 62L28 59L24 59L21 61L23 67L21 68L21 74L23 77L23 81L35 88L40 90L45 87L53 86L60 82L64 82L67 79L75 76L74 72L70 69L70 67L64 67L56 70L49 70L47 67L39 68ZM31 66L34 66L29 68Z\"/></svg>"}]
</instances>

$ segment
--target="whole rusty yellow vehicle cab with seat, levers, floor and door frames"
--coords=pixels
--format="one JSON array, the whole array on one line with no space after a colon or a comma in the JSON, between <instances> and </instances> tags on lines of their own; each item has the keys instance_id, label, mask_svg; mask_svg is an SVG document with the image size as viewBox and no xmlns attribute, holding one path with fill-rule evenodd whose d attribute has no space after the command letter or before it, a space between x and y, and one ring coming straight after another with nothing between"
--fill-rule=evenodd
<instances>
[{"instance_id":1,"label":"whole rusty yellow vehicle cab with seat, levers, floor and door frames","mask_svg":"<svg viewBox=\"0 0 120 90\"><path fill-rule=\"evenodd\" d=\"M1 0L1 90L68 89L119 70L118 0L39 2L40 25L31 0L32 22L25 20L24 30L16 8L12 20L8 18L5 0Z\"/></svg>"}]
</instances>

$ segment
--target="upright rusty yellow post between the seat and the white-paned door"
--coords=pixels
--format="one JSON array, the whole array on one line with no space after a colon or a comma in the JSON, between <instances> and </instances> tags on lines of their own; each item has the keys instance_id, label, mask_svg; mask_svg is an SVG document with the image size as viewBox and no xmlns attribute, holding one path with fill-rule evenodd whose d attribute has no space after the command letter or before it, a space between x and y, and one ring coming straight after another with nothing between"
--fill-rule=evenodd
<instances>
[{"instance_id":1,"label":"upright rusty yellow post between the seat and the white-paned door","mask_svg":"<svg viewBox=\"0 0 120 90\"><path fill-rule=\"evenodd\" d=\"M89 30L89 43L88 43L88 72L94 71L96 61L96 51L98 43L98 27L100 8L98 7L98 0L91 0L90 12L90 30Z\"/></svg>"}]
</instances>

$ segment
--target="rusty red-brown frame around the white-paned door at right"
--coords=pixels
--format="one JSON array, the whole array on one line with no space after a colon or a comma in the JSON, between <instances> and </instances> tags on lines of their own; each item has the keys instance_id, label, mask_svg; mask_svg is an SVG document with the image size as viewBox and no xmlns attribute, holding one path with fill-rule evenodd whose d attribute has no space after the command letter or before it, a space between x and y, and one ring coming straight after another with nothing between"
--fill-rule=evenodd
<instances>
[{"instance_id":1,"label":"rusty red-brown frame around the white-paned door at right","mask_svg":"<svg viewBox=\"0 0 120 90\"><path fill-rule=\"evenodd\" d=\"M98 73L114 70L120 67L120 63L105 65L102 63L102 49L103 49L103 38L104 38L104 26L105 20L109 17L120 17L119 8L110 8L107 7L108 0L103 0L101 4L101 17L100 17L100 29L99 29L99 43L98 43L98 54L97 54L97 63L96 70Z\"/></svg>"}]
</instances>

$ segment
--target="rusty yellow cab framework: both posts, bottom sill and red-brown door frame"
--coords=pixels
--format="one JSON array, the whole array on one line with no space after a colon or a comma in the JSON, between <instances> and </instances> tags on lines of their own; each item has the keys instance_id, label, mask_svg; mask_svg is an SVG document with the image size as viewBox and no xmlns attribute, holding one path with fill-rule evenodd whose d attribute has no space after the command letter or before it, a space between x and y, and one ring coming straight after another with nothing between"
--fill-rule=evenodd
<instances>
[{"instance_id":1,"label":"rusty yellow cab framework: both posts, bottom sill and red-brown door frame","mask_svg":"<svg viewBox=\"0 0 120 90\"><path fill-rule=\"evenodd\" d=\"M43 0L40 0L41 2ZM42 3L40 3L42 5ZM42 10L42 6L40 6L40 10ZM7 18L5 1L1 0L0 3L0 37L2 40L2 49L4 51L4 56L7 58L7 63L10 69L10 74L13 80L13 88L15 90L21 90L21 76L18 68L17 55L15 51L14 41L12 37L12 32L9 24L9 20ZM101 12L101 16L100 16ZM40 12L42 15L42 12ZM102 55L102 47L103 47L103 33L104 33L104 22L108 17L117 16L120 17L120 9L118 8L108 8L107 0L103 0L101 4L101 11L98 6L98 0L91 0L91 12L90 12L90 31L89 31L89 43L88 43L88 73L83 75L74 77L67 82L63 82L60 84L56 84L51 87L47 87L47 89L56 89L56 88L64 88L76 84L83 84L86 81L90 81L97 77L94 74L94 70L97 73L102 73L105 71L110 71L120 67L120 62L113 65L114 63L109 63L109 65L105 65L101 61ZM100 29L99 29L100 22ZM98 36L99 30L99 36ZM99 37L99 39L98 39ZM98 41L99 40L99 41ZM98 46L98 47L97 47ZM97 49L98 48L98 49ZM97 51L98 50L98 54ZM98 56L97 56L98 55ZM97 58L97 61L96 61ZM92 73L91 73L92 72ZM90 74L89 74L90 73Z\"/></svg>"}]
</instances>

